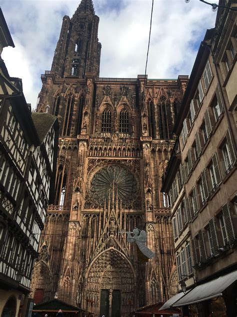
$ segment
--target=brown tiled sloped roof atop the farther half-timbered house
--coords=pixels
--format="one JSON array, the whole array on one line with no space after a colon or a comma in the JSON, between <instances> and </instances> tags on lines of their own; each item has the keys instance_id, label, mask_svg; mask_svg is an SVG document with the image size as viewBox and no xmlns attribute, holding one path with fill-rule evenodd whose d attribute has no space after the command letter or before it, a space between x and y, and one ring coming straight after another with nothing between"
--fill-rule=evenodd
<instances>
[{"instance_id":1,"label":"brown tiled sloped roof atop the farther half-timbered house","mask_svg":"<svg viewBox=\"0 0 237 317\"><path fill-rule=\"evenodd\" d=\"M52 114L42 112L32 112L31 116L39 137L39 141L42 143L45 135L50 130L57 117Z\"/></svg>"}]
</instances>

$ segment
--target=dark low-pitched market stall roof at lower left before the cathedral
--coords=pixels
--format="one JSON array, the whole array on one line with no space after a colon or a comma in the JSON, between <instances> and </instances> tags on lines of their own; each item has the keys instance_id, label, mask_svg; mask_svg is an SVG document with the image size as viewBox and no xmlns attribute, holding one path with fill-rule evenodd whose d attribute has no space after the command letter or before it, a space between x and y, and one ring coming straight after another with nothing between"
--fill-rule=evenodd
<instances>
[{"instance_id":1,"label":"dark low-pitched market stall roof at lower left before the cathedral","mask_svg":"<svg viewBox=\"0 0 237 317\"><path fill-rule=\"evenodd\" d=\"M79 307L72 306L60 299L54 298L48 301L44 301L42 303L36 304L33 306L33 311L48 311L48 310L55 310L58 311L59 309L63 311L80 311L82 310Z\"/></svg>"}]
</instances>

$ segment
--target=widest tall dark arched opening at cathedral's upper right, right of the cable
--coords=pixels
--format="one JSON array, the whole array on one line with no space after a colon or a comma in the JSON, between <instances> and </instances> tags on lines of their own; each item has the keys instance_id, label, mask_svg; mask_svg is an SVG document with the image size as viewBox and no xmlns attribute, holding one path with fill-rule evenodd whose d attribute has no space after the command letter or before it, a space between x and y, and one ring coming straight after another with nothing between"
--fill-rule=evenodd
<instances>
[{"instance_id":1,"label":"widest tall dark arched opening at cathedral's upper right, right of the cable","mask_svg":"<svg viewBox=\"0 0 237 317\"><path fill-rule=\"evenodd\" d=\"M159 137L161 139L172 138L172 120L170 104L164 96L158 102L159 109Z\"/></svg>"}]
</instances>

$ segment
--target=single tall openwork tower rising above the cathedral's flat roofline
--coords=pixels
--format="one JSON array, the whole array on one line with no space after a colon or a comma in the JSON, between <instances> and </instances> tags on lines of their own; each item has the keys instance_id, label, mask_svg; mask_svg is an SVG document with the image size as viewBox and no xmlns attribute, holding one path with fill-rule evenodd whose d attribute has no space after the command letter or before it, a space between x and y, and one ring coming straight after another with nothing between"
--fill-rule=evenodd
<instances>
[{"instance_id":1,"label":"single tall openwork tower rising above the cathedral's flat roofline","mask_svg":"<svg viewBox=\"0 0 237 317\"><path fill-rule=\"evenodd\" d=\"M84 78L86 72L99 76L101 44L97 39L98 23L92 0L82 0L71 19L63 17L51 71L60 77Z\"/></svg>"}]
</instances>

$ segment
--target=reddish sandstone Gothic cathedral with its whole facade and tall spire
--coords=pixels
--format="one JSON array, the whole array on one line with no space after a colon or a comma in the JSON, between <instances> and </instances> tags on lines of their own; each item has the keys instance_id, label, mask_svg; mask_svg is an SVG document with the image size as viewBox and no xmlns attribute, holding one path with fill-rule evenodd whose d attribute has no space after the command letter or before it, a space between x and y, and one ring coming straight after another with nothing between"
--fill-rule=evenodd
<instances>
[{"instance_id":1,"label":"reddish sandstone Gothic cathedral with its whole facade and tall spire","mask_svg":"<svg viewBox=\"0 0 237 317\"><path fill-rule=\"evenodd\" d=\"M35 303L56 295L94 316L126 317L177 290L160 188L188 78L100 78L98 23L92 0L81 0L63 17L51 70L41 76L36 111L57 116L60 132L55 200L31 290ZM134 228L146 231L155 253L148 262L126 241Z\"/></svg>"}]
</instances>

